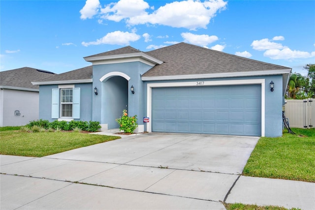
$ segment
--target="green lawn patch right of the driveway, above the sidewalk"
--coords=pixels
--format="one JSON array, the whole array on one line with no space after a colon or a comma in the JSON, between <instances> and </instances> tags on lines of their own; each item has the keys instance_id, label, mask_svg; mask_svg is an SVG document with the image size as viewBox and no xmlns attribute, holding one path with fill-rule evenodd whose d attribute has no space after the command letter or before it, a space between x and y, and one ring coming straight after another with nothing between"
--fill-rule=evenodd
<instances>
[{"instance_id":1,"label":"green lawn patch right of the driveway, above the sidewalk","mask_svg":"<svg viewBox=\"0 0 315 210\"><path fill-rule=\"evenodd\" d=\"M243 175L315 182L315 128L259 139Z\"/></svg>"}]
</instances>

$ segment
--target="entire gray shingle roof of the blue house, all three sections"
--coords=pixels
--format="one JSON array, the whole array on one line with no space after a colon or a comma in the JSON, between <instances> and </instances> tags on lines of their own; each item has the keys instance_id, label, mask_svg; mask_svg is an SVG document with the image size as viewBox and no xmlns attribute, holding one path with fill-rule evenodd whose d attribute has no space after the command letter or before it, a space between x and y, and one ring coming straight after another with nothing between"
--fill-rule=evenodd
<instances>
[{"instance_id":1,"label":"entire gray shingle roof of the blue house, all three sections","mask_svg":"<svg viewBox=\"0 0 315 210\"><path fill-rule=\"evenodd\" d=\"M125 54L141 53L133 47L127 46L84 59L95 59L98 57L117 56ZM247 59L220 51L209 50L207 48L179 43L157 50L143 52L153 58L163 61L162 64L155 65L142 77L158 76L178 76L178 75L198 75L198 74L220 74L290 69L288 67ZM79 68L49 78L33 80L32 82L53 82L53 81L73 81L91 79L93 74L92 65Z\"/></svg>"}]
</instances>

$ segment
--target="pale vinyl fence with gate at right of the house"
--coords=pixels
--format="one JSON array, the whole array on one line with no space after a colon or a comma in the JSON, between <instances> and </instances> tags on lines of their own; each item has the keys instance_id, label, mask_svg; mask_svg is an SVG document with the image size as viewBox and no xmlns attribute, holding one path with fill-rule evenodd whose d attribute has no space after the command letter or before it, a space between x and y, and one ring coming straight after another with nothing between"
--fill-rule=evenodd
<instances>
[{"instance_id":1,"label":"pale vinyl fence with gate at right of the house","mask_svg":"<svg viewBox=\"0 0 315 210\"><path fill-rule=\"evenodd\" d=\"M284 115L288 119L290 127L315 127L315 98L287 99L284 106Z\"/></svg>"}]
</instances>

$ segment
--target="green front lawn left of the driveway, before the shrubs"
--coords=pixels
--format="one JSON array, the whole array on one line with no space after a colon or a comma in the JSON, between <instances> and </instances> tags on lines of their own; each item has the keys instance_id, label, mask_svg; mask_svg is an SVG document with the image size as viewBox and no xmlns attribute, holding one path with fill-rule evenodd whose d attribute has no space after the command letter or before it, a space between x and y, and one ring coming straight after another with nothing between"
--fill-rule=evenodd
<instances>
[{"instance_id":1,"label":"green front lawn left of the driveway, before the shrubs","mask_svg":"<svg viewBox=\"0 0 315 210\"><path fill-rule=\"evenodd\" d=\"M0 132L0 154L42 157L119 138L80 132L6 130Z\"/></svg>"}]
</instances>

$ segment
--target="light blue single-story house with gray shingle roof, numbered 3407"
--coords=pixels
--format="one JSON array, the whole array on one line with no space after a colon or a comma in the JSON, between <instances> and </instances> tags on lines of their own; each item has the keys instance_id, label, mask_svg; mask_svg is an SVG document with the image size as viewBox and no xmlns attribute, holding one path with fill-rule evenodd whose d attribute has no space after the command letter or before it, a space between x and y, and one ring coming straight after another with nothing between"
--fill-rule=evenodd
<instances>
[{"instance_id":1,"label":"light blue single-story house with gray shingle roof, numbered 3407","mask_svg":"<svg viewBox=\"0 0 315 210\"><path fill-rule=\"evenodd\" d=\"M187 43L84 59L92 65L33 82L41 119L113 129L126 109L138 117L135 132L282 136L291 68Z\"/></svg>"}]
</instances>

